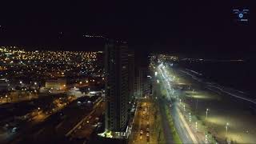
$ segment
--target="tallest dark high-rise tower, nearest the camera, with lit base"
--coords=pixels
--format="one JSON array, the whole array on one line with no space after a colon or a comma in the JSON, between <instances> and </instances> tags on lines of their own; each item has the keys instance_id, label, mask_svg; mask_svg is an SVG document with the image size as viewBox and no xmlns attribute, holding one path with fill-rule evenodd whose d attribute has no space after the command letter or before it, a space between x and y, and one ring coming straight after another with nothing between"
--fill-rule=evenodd
<instances>
[{"instance_id":1,"label":"tallest dark high-rise tower, nearest the camera, with lit base","mask_svg":"<svg viewBox=\"0 0 256 144\"><path fill-rule=\"evenodd\" d=\"M126 43L110 42L105 47L106 130L124 132L129 109L129 51Z\"/></svg>"}]
</instances>

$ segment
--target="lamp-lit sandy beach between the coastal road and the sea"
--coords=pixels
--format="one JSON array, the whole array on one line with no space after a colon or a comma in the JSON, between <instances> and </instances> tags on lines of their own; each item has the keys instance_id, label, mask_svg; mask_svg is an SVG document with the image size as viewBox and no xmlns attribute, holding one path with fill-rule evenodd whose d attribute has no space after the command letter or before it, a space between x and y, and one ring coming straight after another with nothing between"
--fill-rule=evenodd
<instances>
[{"instance_id":1,"label":"lamp-lit sandy beach between the coastal road and the sea","mask_svg":"<svg viewBox=\"0 0 256 144\"><path fill-rule=\"evenodd\" d=\"M194 130L196 138L200 139L199 143L206 141L207 133L210 134L209 141L216 140L219 143L256 142L254 137L256 134L254 126L256 105L253 96L220 86L215 82L209 82L209 79L199 77L182 68L169 67L169 69L166 70L170 72L170 75L181 79L183 83L178 87L181 87L179 89L181 90L182 106L186 105L185 121L189 124L190 130ZM182 106L178 105L180 111L184 113ZM207 109L209 109L208 118L206 117ZM193 116L192 123L202 123L198 126L198 132L195 132L195 124L191 125L188 121L189 112ZM226 132L227 123L229 127Z\"/></svg>"}]
</instances>

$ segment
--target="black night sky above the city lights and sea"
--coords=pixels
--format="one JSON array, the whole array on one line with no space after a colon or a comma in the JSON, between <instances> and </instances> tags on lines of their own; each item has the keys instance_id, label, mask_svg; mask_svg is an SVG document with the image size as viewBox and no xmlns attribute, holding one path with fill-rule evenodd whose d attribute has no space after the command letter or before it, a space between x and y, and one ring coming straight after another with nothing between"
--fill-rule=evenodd
<instances>
[{"instance_id":1,"label":"black night sky above the city lights and sea","mask_svg":"<svg viewBox=\"0 0 256 144\"><path fill-rule=\"evenodd\" d=\"M234 8L250 9L236 22ZM1 2L0 45L48 50L103 50L104 41L128 41L143 52L251 55L256 52L253 0L169 2Z\"/></svg>"}]
</instances>

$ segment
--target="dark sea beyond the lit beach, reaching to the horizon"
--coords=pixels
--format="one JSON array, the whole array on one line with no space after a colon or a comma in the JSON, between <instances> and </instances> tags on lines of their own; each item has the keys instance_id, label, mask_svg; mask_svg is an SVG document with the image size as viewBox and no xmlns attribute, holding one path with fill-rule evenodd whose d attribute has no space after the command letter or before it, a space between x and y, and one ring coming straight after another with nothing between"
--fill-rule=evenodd
<instances>
[{"instance_id":1,"label":"dark sea beyond the lit beach, reaching to the horizon","mask_svg":"<svg viewBox=\"0 0 256 144\"><path fill-rule=\"evenodd\" d=\"M256 62L186 62L182 67L197 71L210 82L241 90L246 94L256 94ZM254 96L256 98L256 96Z\"/></svg>"}]
</instances>

